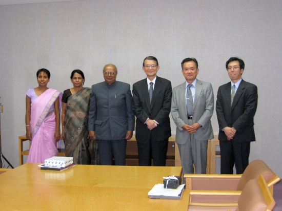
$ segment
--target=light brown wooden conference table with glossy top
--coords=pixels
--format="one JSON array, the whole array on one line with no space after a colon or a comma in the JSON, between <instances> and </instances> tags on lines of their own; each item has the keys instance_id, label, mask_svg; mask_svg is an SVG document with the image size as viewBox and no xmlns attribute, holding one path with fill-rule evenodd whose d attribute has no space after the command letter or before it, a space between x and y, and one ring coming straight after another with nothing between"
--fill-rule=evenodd
<instances>
[{"instance_id":1,"label":"light brown wooden conference table with glossy top","mask_svg":"<svg viewBox=\"0 0 282 211\"><path fill-rule=\"evenodd\" d=\"M179 166L75 165L62 172L26 163L0 175L1 210L187 210L182 199L150 199L163 176L182 174Z\"/></svg>"}]
</instances>

